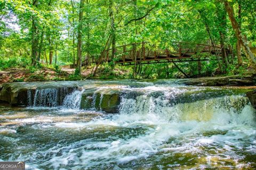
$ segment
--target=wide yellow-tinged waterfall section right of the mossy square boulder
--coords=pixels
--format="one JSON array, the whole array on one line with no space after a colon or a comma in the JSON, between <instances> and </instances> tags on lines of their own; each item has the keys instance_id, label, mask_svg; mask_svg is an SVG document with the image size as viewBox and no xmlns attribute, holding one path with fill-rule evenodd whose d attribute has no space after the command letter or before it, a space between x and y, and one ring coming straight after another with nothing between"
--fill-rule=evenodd
<instances>
[{"instance_id":1,"label":"wide yellow-tinged waterfall section right of the mossy square boulder","mask_svg":"<svg viewBox=\"0 0 256 170\"><path fill-rule=\"evenodd\" d=\"M184 91L176 91L176 94L172 91L148 92L133 97L128 93L121 98L119 113L145 116L154 114L170 121L209 121L220 113L237 115L249 105L247 97L241 95L205 99L194 95L193 100L187 102L183 101L184 96Z\"/></svg>"}]
</instances>

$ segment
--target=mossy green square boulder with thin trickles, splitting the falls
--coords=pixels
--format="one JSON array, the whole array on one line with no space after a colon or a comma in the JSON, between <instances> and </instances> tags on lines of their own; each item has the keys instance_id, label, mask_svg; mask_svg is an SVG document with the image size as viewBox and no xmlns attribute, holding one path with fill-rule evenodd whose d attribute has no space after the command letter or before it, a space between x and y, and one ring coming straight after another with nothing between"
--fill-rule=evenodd
<instances>
[{"instance_id":1,"label":"mossy green square boulder with thin trickles, splitting the falls","mask_svg":"<svg viewBox=\"0 0 256 170\"><path fill-rule=\"evenodd\" d=\"M95 89L87 89L82 94L81 108L95 109L107 113L117 113L121 101L121 91L104 90L95 91Z\"/></svg>"}]
</instances>

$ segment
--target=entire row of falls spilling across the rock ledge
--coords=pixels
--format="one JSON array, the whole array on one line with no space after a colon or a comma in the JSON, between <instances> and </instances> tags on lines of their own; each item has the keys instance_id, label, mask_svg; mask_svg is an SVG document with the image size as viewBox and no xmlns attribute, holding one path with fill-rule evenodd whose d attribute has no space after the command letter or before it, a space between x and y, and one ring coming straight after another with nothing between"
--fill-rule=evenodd
<instances>
[{"instance_id":1,"label":"entire row of falls spilling across the rock ledge","mask_svg":"<svg viewBox=\"0 0 256 170\"><path fill-rule=\"evenodd\" d=\"M28 90L28 105L33 107L58 107L80 109L81 103L86 110L106 111L111 100L111 94L117 89L77 88L46 88ZM84 92L86 97L82 98ZM113 93L111 93L113 92ZM117 111L121 115L157 115L172 121L207 121L216 113L237 114L249 105L248 99L232 90L206 89L190 87L157 87L121 88L118 91ZM223 95L228 94L229 95ZM108 97L107 97L108 95ZM110 96L109 96L110 95ZM83 101L81 101L83 100ZM103 106L103 107L102 107Z\"/></svg>"}]
</instances>

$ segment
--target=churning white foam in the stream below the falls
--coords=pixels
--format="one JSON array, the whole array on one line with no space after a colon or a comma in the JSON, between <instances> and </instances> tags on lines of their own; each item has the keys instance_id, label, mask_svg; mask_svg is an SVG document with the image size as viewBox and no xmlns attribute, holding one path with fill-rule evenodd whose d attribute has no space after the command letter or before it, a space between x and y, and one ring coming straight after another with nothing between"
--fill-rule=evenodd
<instances>
[{"instance_id":1,"label":"churning white foam in the stream below the falls","mask_svg":"<svg viewBox=\"0 0 256 170\"><path fill-rule=\"evenodd\" d=\"M192 103L191 105L193 105ZM198 113L197 111L195 111ZM179 114L175 114L178 116ZM166 118L168 117L168 118ZM197 121L197 117L190 117L186 121L174 121L169 115L155 113L131 113L118 114L111 118L99 118L88 123L55 123L54 128L71 131L87 131L89 133L102 133L101 130L143 127L146 132L135 137L126 134L124 138L116 138L110 135L107 141L79 140L69 145L58 145L45 150L43 155L53 155L45 165L51 165L58 169L68 165L68 162L77 162L74 168L86 165L86 167L99 167L116 162L117 165L129 164L133 160L146 159L156 154L190 153L199 157L205 157L209 165L211 157L233 160L236 162L243 156L236 154L236 150L244 150L253 153L256 151L255 142L255 115L250 106L245 106L241 113L214 109L210 120ZM181 120L179 117L177 120ZM176 120L176 119L175 119ZM205 136L203 133L217 134ZM225 131L225 134L219 133ZM121 130L122 133L122 130ZM114 140L113 140L114 139ZM170 139L173 139L169 142ZM250 144L248 144L250 143ZM214 148L219 154L207 154L205 148ZM58 153L62 154L59 155ZM206 155L205 155L206 154ZM222 156L221 156L222 155ZM214 160L215 161L215 160ZM209 163L210 162L210 163ZM214 163L214 162L213 162ZM235 167L238 168L239 164Z\"/></svg>"}]
</instances>

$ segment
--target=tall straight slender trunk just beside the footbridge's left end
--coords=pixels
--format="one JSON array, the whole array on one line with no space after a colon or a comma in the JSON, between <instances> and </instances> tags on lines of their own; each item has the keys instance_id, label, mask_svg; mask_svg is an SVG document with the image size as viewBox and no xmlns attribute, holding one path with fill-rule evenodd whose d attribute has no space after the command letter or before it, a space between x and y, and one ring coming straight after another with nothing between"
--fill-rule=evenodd
<instances>
[{"instance_id":1,"label":"tall straight slender trunk just beside the footbridge's left end","mask_svg":"<svg viewBox=\"0 0 256 170\"><path fill-rule=\"evenodd\" d=\"M84 6L84 0L80 0L79 5L79 21L78 21L78 29L77 29L77 68L79 74L81 74L82 71L82 19L83 19L83 6Z\"/></svg>"}]
</instances>

